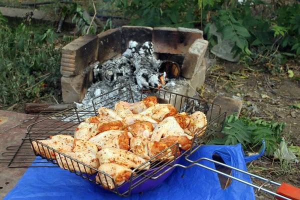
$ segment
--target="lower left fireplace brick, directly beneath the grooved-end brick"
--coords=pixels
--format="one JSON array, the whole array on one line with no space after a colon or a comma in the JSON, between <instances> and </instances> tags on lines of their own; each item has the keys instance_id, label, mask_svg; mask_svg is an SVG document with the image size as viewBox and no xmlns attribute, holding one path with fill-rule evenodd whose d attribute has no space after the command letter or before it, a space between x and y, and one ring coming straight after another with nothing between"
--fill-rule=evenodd
<instances>
[{"instance_id":1,"label":"lower left fireplace brick, directly beneath the grooved-end brick","mask_svg":"<svg viewBox=\"0 0 300 200\"><path fill-rule=\"evenodd\" d=\"M61 77L61 92L64 102L81 102L86 94L87 88L92 83L92 68L79 75Z\"/></svg>"}]
</instances>

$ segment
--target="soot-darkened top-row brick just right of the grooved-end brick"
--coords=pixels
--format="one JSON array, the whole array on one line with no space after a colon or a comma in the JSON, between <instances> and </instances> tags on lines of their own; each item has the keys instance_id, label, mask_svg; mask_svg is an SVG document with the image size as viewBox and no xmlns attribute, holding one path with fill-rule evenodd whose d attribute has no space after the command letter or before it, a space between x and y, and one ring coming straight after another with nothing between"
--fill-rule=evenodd
<instances>
[{"instance_id":1,"label":"soot-darkened top-row brick just right of the grooved-end brick","mask_svg":"<svg viewBox=\"0 0 300 200\"><path fill-rule=\"evenodd\" d=\"M100 63L121 53L122 32L120 28L106 30L98 34L98 61Z\"/></svg>"}]
</instances>

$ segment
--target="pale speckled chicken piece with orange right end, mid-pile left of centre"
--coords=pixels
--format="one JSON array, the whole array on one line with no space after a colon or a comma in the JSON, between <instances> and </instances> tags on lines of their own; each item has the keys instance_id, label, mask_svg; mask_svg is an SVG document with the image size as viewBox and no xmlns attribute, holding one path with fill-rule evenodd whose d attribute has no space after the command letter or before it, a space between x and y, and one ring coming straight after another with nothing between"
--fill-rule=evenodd
<instances>
[{"instance_id":1,"label":"pale speckled chicken piece with orange right end, mid-pile left of centre","mask_svg":"<svg viewBox=\"0 0 300 200\"><path fill-rule=\"evenodd\" d=\"M129 149L129 138L132 137L126 130L107 130L93 136L89 141L96 144L98 150L102 148L121 148Z\"/></svg>"}]
</instances>

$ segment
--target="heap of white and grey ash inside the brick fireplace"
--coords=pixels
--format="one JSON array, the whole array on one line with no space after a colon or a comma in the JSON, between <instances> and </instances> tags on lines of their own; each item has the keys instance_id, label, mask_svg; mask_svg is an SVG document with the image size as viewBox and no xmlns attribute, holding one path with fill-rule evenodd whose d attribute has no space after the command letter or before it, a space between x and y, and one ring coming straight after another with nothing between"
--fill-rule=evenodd
<instances>
[{"instance_id":1,"label":"heap of white and grey ash inside the brick fireplace","mask_svg":"<svg viewBox=\"0 0 300 200\"><path fill-rule=\"evenodd\" d=\"M134 101L139 101L142 85L157 87L160 84L158 68L161 61L157 60L153 53L152 42L147 41L138 44L136 41L129 41L129 46L121 57L111 58L93 68L96 82L87 89L82 102L76 103L77 108L92 106L92 98L128 83L131 86ZM108 96L97 98L96 101L100 102L107 99L104 102L107 104L119 97L115 91L109 93Z\"/></svg>"}]
</instances>

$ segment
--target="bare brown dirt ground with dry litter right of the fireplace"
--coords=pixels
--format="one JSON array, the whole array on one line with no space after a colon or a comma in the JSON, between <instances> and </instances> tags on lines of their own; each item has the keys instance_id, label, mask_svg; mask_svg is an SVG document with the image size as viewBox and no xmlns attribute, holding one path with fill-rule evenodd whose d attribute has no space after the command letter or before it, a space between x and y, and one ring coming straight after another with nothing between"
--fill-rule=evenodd
<instances>
[{"instance_id":1,"label":"bare brown dirt ground with dry litter right of the fireplace","mask_svg":"<svg viewBox=\"0 0 300 200\"><path fill-rule=\"evenodd\" d=\"M293 103L300 102L300 81L293 80L285 74L272 75L261 72L261 67L243 67L241 64L217 60L216 65L208 68L203 96L212 101L217 94L238 98L243 101L241 115L259 117L264 120L285 122L286 126L282 136L288 144L300 146L300 109L291 107ZM299 76L300 67L294 62L289 64L294 76ZM273 93L266 84L263 74L269 85L277 93L298 99L287 99ZM277 182L286 182L300 187L300 164L280 163L266 156L247 164L248 170L265 178ZM252 179L254 183L263 181ZM270 190L276 190L275 186L265 184ZM259 192L257 199L274 199L273 196Z\"/></svg>"}]
</instances>

